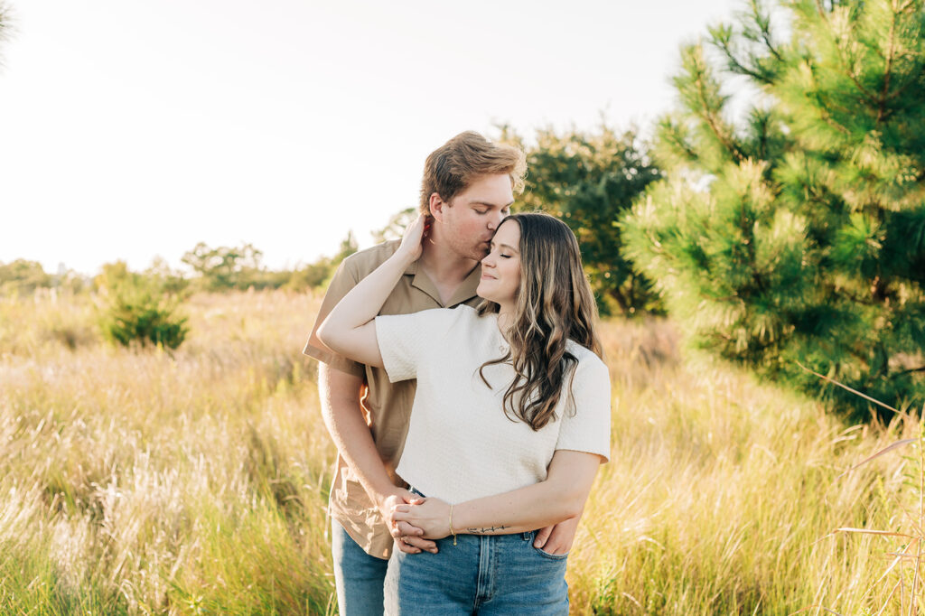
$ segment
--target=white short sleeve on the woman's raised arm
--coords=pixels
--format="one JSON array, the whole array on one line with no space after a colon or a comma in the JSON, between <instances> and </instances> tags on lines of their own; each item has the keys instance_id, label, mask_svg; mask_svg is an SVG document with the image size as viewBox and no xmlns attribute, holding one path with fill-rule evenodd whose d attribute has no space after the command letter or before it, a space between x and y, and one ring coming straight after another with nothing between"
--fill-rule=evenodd
<instances>
[{"instance_id":1,"label":"white short sleeve on the woman's raised arm","mask_svg":"<svg viewBox=\"0 0 925 616\"><path fill-rule=\"evenodd\" d=\"M446 336L460 309L376 316L379 354L391 383L417 378L417 368Z\"/></svg>"}]
</instances>

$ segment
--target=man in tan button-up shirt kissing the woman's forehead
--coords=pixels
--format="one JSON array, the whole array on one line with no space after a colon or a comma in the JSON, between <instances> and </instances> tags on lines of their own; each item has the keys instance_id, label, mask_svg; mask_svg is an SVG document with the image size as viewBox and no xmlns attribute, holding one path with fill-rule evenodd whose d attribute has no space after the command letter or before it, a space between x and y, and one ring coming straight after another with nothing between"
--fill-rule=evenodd
<instances>
[{"instance_id":1,"label":"man in tan button-up shirt kissing the woman's forehead","mask_svg":"<svg viewBox=\"0 0 925 616\"><path fill-rule=\"evenodd\" d=\"M524 153L463 132L427 157L420 211L429 216L421 258L409 267L380 314L408 314L461 303L475 306L480 261L501 219L510 213L513 191L523 191ZM314 334L327 313L351 288L399 246L387 241L348 257L327 289L305 354L320 362L322 414L339 451L331 485L332 554L342 616L381 614L383 582L393 545L415 553L436 545L384 520L395 504L410 502L394 469L408 431L413 381L388 382L381 368L353 363L328 350ZM544 529L537 547L563 553L571 547L577 520ZM404 536L396 542L390 534Z\"/></svg>"}]
</instances>

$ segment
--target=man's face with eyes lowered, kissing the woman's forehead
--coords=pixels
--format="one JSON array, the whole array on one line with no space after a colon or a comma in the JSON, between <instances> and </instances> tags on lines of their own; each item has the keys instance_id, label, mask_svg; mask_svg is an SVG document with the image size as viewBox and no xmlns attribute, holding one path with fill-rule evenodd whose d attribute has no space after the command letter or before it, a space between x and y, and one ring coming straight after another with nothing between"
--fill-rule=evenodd
<instances>
[{"instance_id":1,"label":"man's face with eyes lowered, kissing the woman's forehead","mask_svg":"<svg viewBox=\"0 0 925 616\"><path fill-rule=\"evenodd\" d=\"M475 179L449 205L442 204L438 224L443 240L454 253L481 261L501 220L511 213L512 203L511 178L506 174Z\"/></svg>"}]
</instances>

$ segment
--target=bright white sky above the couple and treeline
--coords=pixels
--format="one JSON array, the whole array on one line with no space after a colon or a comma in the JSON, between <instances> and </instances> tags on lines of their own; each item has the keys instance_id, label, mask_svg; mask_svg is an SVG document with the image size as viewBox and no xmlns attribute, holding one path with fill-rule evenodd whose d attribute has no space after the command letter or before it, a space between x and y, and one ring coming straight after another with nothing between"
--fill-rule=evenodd
<instances>
[{"instance_id":1,"label":"bright white sky above the couple and treeline","mask_svg":"<svg viewBox=\"0 0 925 616\"><path fill-rule=\"evenodd\" d=\"M506 122L623 128L734 0L6 0L0 262L85 274L251 242L273 268L416 203L426 154Z\"/></svg>"}]
</instances>

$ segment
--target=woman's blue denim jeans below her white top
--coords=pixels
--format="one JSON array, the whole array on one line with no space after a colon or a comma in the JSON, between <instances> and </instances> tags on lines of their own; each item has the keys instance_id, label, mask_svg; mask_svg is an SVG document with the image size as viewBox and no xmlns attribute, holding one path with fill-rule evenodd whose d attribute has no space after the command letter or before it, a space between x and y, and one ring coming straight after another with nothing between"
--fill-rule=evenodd
<instances>
[{"instance_id":1,"label":"woman's blue denim jeans below her white top","mask_svg":"<svg viewBox=\"0 0 925 616\"><path fill-rule=\"evenodd\" d=\"M567 554L533 547L536 532L460 535L438 553L394 551L388 561L386 613L568 616Z\"/></svg>"}]
</instances>

